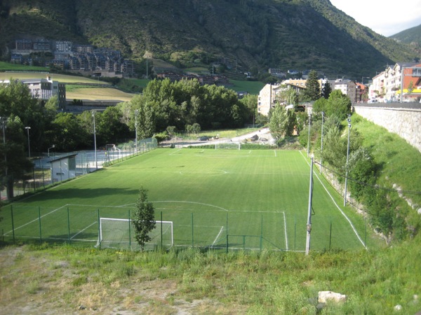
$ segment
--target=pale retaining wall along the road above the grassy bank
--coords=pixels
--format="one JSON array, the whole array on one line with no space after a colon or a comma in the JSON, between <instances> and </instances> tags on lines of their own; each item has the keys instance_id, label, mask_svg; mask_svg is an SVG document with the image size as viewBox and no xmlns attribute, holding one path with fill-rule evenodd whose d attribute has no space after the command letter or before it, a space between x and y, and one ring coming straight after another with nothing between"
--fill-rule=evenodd
<instances>
[{"instance_id":1,"label":"pale retaining wall along the road above the grassy bank","mask_svg":"<svg viewBox=\"0 0 421 315\"><path fill-rule=\"evenodd\" d=\"M398 134L421 152L421 104L352 104L355 113Z\"/></svg>"}]
</instances>

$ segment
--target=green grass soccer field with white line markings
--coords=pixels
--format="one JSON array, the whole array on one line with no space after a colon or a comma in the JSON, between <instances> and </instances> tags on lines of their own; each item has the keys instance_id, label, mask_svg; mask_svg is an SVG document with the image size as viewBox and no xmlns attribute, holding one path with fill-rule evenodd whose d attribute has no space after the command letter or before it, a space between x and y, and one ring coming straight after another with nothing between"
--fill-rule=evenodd
<instances>
[{"instance_id":1,"label":"green grass soccer field with white line markings","mask_svg":"<svg viewBox=\"0 0 421 315\"><path fill-rule=\"evenodd\" d=\"M7 241L83 246L114 233L133 248L127 220L102 218L128 219L143 186L156 220L172 222L156 245L304 251L309 176L300 151L159 148L4 207L0 229ZM314 168L311 250L370 247L363 218L342 202Z\"/></svg>"}]
</instances>

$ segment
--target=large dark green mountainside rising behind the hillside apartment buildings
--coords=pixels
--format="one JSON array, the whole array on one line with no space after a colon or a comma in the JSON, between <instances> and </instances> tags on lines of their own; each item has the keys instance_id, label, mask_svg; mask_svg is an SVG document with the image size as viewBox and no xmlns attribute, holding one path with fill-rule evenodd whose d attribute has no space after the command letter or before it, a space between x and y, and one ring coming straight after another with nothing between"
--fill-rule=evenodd
<instances>
[{"instance_id":1,"label":"large dark green mountainside rising behind the hillside apartment buildings","mask_svg":"<svg viewBox=\"0 0 421 315\"><path fill-rule=\"evenodd\" d=\"M3 0L0 48L44 37L145 54L178 66L316 69L372 76L412 60L408 46L359 25L328 0Z\"/></svg>"}]
</instances>

